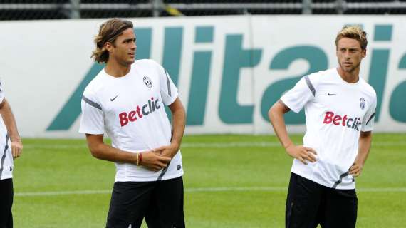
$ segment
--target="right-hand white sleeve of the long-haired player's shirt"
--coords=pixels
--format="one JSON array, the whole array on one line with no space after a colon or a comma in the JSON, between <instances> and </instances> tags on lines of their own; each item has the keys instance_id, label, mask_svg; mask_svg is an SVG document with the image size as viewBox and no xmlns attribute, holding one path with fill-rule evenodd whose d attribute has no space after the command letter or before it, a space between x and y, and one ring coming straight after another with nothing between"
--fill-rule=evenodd
<instances>
[{"instance_id":1,"label":"right-hand white sleeve of the long-haired player's shirt","mask_svg":"<svg viewBox=\"0 0 406 228\"><path fill-rule=\"evenodd\" d=\"M177 98L177 88L172 82L169 73L164 68L160 68L159 74L162 103L164 103L165 105L170 105Z\"/></svg>"}]
</instances>

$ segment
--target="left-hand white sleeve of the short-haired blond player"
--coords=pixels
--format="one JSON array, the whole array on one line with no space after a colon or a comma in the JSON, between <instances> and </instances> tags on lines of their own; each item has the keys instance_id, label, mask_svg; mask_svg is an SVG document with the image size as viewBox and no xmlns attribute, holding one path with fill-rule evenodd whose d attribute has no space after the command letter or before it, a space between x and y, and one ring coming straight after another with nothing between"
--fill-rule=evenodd
<instances>
[{"instance_id":1,"label":"left-hand white sleeve of the short-haired blond player","mask_svg":"<svg viewBox=\"0 0 406 228\"><path fill-rule=\"evenodd\" d=\"M296 85L282 95L281 100L293 112L299 113L301 109L314 98L316 90L308 76L304 76Z\"/></svg>"}]
</instances>

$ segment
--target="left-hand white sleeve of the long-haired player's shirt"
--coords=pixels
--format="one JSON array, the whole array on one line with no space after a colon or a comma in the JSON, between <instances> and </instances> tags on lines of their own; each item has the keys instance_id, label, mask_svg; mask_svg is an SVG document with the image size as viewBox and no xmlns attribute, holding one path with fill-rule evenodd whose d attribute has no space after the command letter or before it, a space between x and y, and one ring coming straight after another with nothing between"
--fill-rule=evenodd
<instances>
[{"instance_id":1,"label":"left-hand white sleeve of the long-haired player's shirt","mask_svg":"<svg viewBox=\"0 0 406 228\"><path fill-rule=\"evenodd\" d=\"M79 133L102 135L104 133L104 115L100 103L92 93L83 93L82 115Z\"/></svg>"}]
</instances>

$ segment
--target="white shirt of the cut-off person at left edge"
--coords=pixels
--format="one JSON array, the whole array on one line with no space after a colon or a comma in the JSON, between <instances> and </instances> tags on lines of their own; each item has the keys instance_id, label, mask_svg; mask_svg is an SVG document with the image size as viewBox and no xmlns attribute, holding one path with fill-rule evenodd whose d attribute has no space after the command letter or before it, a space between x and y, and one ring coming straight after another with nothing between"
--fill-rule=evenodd
<instances>
[{"instance_id":1,"label":"white shirt of the cut-off person at left edge","mask_svg":"<svg viewBox=\"0 0 406 228\"><path fill-rule=\"evenodd\" d=\"M0 103L4 100L3 85L0 82ZM11 141L7 134L3 118L0 118L0 180L13 178L13 155L11 154Z\"/></svg>"}]
</instances>

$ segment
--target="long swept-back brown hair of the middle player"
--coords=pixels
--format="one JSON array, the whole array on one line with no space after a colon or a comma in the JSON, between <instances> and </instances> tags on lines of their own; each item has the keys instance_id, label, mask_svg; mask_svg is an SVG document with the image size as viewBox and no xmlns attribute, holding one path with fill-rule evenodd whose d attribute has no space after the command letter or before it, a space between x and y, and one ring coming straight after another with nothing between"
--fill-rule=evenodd
<instances>
[{"instance_id":1,"label":"long swept-back brown hair of the middle player","mask_svg":"<svg viewBox=\"0 0 406 228\"><path fill-rule=\"evenodd\" d=\"M90 58L94 58L98 63L107 63L108 51L105 49L106 42L115 44L115 39L120 36L127 28L132 28L132 22L122 19L110 19L105 21L100 28L99 33L95 36L96 49Z\"/></svg>"}]
</instances>

